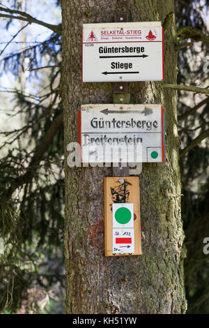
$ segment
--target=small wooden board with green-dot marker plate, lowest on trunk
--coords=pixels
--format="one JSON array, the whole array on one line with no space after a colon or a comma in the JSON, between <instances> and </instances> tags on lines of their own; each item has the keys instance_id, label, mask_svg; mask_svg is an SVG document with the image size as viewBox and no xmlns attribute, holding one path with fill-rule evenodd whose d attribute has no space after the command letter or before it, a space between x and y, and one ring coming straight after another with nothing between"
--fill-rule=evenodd
<instances>
[{"instance_id":1,"label":"small wooden board with green-dot marker plate, lowest on trunk","mask_svg":"<svg viewBox=\"0 0 209 328\"><path fill-rule=\"evenodd\" d=\"M105 256L141 255L139 177L104 178Z\"/></svg>"}]
</instances>

